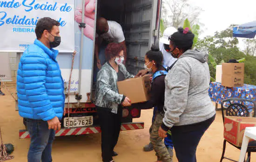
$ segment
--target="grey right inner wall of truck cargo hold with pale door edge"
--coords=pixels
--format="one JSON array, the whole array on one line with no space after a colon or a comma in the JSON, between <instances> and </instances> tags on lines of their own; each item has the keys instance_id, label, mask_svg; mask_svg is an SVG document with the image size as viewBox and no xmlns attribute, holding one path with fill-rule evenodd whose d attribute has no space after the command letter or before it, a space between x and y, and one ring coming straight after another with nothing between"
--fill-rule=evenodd
<instances>
[{"instance_id":1,"label":"grey right inner wall of truck cargo hold with pale door edge","mask_svg":"<svg viewBox=\"0 0 256 162\"><path fill-rule=\"evenodd\" d=\"M144 69L144 57L159 36L162 0L125 1L127 69L133 74Z\"/></svg>"}]
</instances>

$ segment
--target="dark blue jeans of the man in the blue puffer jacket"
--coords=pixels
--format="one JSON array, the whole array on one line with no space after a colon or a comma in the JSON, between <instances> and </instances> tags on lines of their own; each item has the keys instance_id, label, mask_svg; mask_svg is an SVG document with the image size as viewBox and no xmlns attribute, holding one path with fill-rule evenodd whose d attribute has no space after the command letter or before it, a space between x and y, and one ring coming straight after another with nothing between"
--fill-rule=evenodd
<instances>
[{"instance_id":1,"label":"dark blue jeans of the man in the blue puffer jacket","mask_svg":"<svg viewBox=\"0 0 256 162\"><path fill-rule=\"evenodd\" d=\"M52 144L55 131L48 129L47 121L27 120L31 142L27 154L28 162L52 162Z\"/></svg>"}]
</instances>

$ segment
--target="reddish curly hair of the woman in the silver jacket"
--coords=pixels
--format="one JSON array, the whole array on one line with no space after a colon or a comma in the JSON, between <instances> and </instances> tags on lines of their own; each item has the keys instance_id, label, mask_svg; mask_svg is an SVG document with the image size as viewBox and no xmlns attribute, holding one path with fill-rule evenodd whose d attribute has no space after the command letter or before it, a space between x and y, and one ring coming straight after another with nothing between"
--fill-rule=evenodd
<instances>
[{"instance_id":1,"label":"reddish curly hair of the woman in the silver jacket","mask_svg":"<svg viewBox=\"0 0 256 162\"><path fill-rule=\"evenodd\" d=\"M112 57L118 56L121 50L124 50L124 45L123 44L118 44L118 43L110 43L108 44L106 50L105 50L105 55L107 60L109 61Z\"/></svg>"}]
</instances>

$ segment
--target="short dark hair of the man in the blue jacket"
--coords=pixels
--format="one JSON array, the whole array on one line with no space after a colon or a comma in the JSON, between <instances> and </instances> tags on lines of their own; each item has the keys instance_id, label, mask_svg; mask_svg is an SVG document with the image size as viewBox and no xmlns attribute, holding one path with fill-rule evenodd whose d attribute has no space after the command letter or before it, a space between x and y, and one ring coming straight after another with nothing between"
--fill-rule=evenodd
<instances>
[{"instance_id":1,"label":"short dark hair of the man in the blue jacket","mask_svg":"<svg viewBox=\"0 0 256 162\"><path fill-rule=\"evenodd\" d=\"M42 37L42 34L45 30L51 32L53 26L60 26L60 23L48 17L39 19L35 27L35 34L37 39Z\"/></svg>"}]
</instances>

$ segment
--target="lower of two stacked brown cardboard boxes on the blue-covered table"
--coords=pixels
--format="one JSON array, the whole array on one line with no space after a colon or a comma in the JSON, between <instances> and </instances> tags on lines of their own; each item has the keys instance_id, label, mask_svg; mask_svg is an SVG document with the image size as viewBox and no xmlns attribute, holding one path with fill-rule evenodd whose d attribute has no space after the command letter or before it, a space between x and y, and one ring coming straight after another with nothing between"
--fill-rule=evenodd
<instances>
[{"instance_id":1,"label":"lower of two stacked brown cardboard boxes on the blue-covered table","mask_svg":"<svg viewBox=\"0 0 256 162\"><path fill-rule=\"evenodd\" d=\"M243 87L243 75L222 75L222 86L225 87Z\"/></svg>"}]
</instances>

